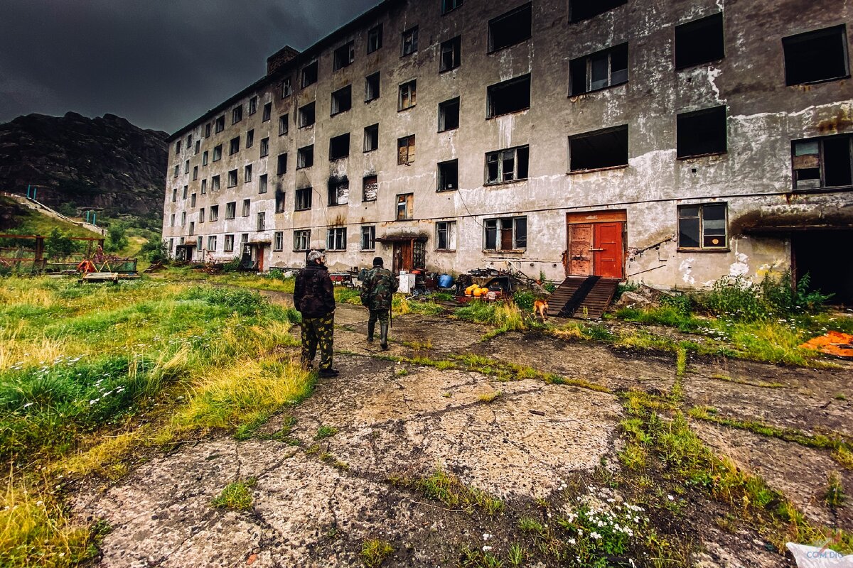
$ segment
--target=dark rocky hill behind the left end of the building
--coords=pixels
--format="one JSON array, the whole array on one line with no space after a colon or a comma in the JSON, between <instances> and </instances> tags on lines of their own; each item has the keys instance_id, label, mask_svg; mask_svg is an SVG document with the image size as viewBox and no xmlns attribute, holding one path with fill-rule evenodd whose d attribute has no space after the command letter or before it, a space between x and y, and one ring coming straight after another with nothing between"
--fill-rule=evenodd
<instances>
[{"instance_id":1,"label":"dark rocky hill behind the left end of the building","mask_svg":"<svg viewBox=\"0 0 853 568\"><path fill-rule=\"evenodd\" d=\"M166 137L113 114L18 117L0 124L0 190L26 193L32 184L38 201L67 215L99 209L159 227Z\"/></svg>"}]
</instances>

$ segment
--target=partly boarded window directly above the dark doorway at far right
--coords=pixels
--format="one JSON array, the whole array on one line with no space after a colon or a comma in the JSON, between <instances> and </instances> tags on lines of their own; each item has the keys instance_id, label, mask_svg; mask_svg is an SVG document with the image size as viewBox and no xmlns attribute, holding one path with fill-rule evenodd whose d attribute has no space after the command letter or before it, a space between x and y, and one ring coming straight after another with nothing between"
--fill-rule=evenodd
<instances>
[{"instance_id":1,"label":"partly boarded window directly above the dark doorway at far right","mask_svg":"<svg viewBox=\"0 0 853 568\"><path fill-rule=\"evenodd\" d=\"M792 141L794 189L853 185L853 136Z\"/></svg>"}]
</instances>

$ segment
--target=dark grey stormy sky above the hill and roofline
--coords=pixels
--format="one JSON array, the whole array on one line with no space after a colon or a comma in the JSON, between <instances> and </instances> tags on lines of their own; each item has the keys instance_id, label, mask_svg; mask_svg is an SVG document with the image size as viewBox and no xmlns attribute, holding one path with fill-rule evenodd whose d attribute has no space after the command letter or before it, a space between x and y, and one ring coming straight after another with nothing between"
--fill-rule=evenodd
<instances>
[{"instance_id":1,"label":"dark grey stormy sky above the hill and roofline","mask_svg":"<svg viewBox=\"0 0 853 568\"><path fill-rule=\"evenodd\" d=\"M379 0L0 0L0 123L112 112L172 132Z\"/></svg>"}]
</instances>

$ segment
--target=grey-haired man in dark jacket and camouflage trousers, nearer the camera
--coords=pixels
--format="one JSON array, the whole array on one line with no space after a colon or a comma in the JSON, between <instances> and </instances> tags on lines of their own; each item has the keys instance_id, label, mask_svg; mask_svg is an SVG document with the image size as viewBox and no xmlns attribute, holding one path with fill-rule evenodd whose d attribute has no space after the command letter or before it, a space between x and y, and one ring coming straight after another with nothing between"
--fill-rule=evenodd
<instances>
[{"instance_id":1,"label":"grey-haired man in dark jacket and camouflage trousers, nearer the camera","mask_svg":"<svg viewBox=\"0 0 853 568\"><path fill-rule=\"evenodd\" d=\"M302 313L302 364L311 368L320 347L320 376L337 376L332 368L334 333L334 289L319 250L308 253L308 263L296 275L293 305Z\"/></svg>"}]
</instances>

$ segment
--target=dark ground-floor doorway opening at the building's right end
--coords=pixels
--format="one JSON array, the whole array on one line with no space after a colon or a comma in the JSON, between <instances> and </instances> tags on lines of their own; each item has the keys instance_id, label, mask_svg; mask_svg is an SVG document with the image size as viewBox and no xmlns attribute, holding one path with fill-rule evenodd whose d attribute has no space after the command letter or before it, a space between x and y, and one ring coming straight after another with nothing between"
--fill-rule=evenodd
<instances>
[{"instance_id":1,"label":"dark ground-floor doorway opening at the building's right end","mask_svg":"<svg viewBox=\"0 0 853 568\"><path fill-rule=\"evenodd\" d=\"M809 288L834 294L831 304L853 306L853 262L839 259L839 247L853 243L853 229L809 231L792 237L794 276L809 274Z\"/></svg>"}]
</instances>

